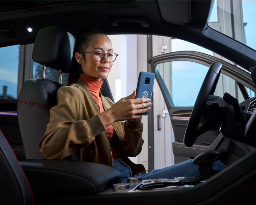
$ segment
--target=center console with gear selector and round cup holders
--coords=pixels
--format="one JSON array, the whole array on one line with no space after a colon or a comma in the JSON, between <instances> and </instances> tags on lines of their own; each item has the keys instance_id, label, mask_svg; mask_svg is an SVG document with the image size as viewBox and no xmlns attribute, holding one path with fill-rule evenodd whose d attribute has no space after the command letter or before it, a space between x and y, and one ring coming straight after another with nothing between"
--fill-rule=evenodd
<instances>
[{"instance_id":1,"label":"center console with gear selector and round cup holders","mask_svg":"<svg viewBox=\"0 0 256 205\"><path fill-rule=\"evenodd\" d=\"M199 174L194 177L172 177L142 180L142 177L129 177L127 182L115 183L108 186L102 193L141 192L149 190L169 190L191 188L206 182L220 170L213 170L212 163L223 156L220 150L209 150L196 156L193 163L198 165Z\"/></svg>"}]
</instances>

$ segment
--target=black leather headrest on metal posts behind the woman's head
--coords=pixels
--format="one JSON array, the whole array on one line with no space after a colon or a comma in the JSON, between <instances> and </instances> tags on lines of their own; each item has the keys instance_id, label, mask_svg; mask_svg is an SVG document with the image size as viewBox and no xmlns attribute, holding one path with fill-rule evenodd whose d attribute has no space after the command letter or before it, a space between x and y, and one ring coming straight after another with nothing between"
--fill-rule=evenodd
<instances>
[{"instance_id":1,"label":"black leather headrest on metal posts behind the woman's head","mask_svg":"<svg viewBox=\"0 0 256 205\"><path fill-rule=\"evenodd\" d=\"M42 28L36 35L32 59L46 67L69 73L75 37L56 26Z\"/></svg>"}]
</instances>

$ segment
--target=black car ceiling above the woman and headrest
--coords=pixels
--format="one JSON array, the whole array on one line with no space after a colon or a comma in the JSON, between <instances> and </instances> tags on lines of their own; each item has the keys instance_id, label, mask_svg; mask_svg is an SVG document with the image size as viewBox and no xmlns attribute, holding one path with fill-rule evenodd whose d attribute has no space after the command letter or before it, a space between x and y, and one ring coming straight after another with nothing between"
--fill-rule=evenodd
<instances>
[{"instance_id":1,"label":"black car ceiling above the woman and headrest","mask_svg":"<svg viewBox=\"0 0 256 205\"><path fill-rule=\"evenodd\" d=\"M98 28L110 35L162 35L197 43L212 5L213 1L1 1L1 47L34 43L37 32L47 26L59 26L74 36L85 28ZM125 21L111 26L115 18L140 18L149 27Z\"/></svg>"}]
</instances>

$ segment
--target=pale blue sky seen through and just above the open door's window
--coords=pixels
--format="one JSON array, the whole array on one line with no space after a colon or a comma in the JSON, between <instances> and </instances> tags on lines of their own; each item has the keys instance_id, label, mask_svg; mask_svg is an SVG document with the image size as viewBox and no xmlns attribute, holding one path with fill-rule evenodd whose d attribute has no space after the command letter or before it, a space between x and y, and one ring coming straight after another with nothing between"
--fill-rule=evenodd
<instances>
[{"instance_id":1,"label":"pale blue sky seen through and just above the open door's window","mask_svg":"<svg viewBox=\"0 0 256 205\"><path fill-rule=\"evenodd\" d=\"M180 39L171 40L171 51L197 51L213 55L212 51ZM190 61L172 62L172 101L175 106L194 106L208 69Z\"/></svg>"}]
</instances>

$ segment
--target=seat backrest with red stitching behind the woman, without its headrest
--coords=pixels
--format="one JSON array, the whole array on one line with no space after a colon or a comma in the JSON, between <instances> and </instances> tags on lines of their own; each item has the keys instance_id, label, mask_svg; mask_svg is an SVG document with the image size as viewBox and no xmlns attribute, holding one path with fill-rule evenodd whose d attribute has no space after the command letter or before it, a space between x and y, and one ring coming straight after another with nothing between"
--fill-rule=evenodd
<instances>
[{"instance_id":1,"label":"seat backrest with red stitching behind the woman, without its headrest","mask_svg":"<svg viewBox=\"0 0 256 205\"><path fill-rule=\"evenodd\" d=\"M38 145L61 86L48 79L28 79L22 86L17 99L17 115L26 159L44 159Z\"/></svg>"}]
</instances>

